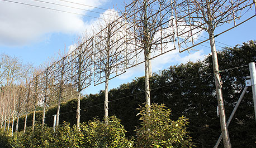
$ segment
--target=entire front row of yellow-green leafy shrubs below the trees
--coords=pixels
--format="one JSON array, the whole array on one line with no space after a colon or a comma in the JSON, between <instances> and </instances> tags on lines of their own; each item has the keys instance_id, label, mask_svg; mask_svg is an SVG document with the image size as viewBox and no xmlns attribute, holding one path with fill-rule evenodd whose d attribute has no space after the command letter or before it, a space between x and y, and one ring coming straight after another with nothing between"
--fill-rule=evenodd
<instances>
[{"instance_id":1,"label":"entire front row of yellow-green leafy shrubs below the trees","mask_svg":"<svg viewBox=\"0 0 256 148\"><path fill-rule=\"evenodd\" d=\"M170 120L170 110L157 104L151 106L150 117L145 115L145 108L141 108L140 113L141 125L136 130L137 136L130 139L125 135L127 131L121 125L121 120L110 116L105 121L94 119L80 124L79 129L64 122L55 129L36 124L34 131L28 127L25 133L16 132L12 137L1 131L1 147L133 147L134 143L136 147L192 146L186 130L188 119L181 117L177 121Z\"/></svg>"}]
</instances>

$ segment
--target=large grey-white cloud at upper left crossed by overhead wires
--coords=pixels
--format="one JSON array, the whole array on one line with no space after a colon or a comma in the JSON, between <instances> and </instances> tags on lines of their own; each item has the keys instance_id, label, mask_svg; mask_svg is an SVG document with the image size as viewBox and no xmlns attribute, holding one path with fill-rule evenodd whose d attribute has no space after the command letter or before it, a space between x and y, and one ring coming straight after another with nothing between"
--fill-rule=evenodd
<instances>
[{"instance_id":1,"label":"large grey-white cloud at upper left crossed by overhead wires","mask_svg":"<svg viewBox=\"0 0 256 148\"><path fill-rule=\"evenodd\" d=\"M105 1L107 0L70 0L70 2L82 3L94 7L100 6ZM49 3L30 0L16 2L79 14L87 13L81 9L93 9L92 7L58 0L48 0L47 2L63 4L81 9L56 6ZM0 45L25 45L31 41L39 40L39 38L44 37L45 34L53 32L78 34L84 31L86 27L87 25L86 22L83 21L83 16L79 16L77 14L0 1Z\"/></svg>"}]
</instances>

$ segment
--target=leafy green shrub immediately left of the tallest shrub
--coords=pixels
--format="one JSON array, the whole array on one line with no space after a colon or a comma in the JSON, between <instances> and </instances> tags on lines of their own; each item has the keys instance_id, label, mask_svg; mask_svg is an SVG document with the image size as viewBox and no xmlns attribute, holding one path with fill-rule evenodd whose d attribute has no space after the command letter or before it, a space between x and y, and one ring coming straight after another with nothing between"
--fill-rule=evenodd
<instances>
[{"instance_id":1,"label":"leafy green shrub immediately left of the tallest shrub","mask_svg":"<svg viewBox=\"0 0 256 148\"><path fill-rule=\"evenodd\" d=\"M125 137L124 126L115 116L104 121L94 119L88 125L80 125L81 130L86 136L88 147L132 147L132 141Z\"/></svg>"}]
</instances>

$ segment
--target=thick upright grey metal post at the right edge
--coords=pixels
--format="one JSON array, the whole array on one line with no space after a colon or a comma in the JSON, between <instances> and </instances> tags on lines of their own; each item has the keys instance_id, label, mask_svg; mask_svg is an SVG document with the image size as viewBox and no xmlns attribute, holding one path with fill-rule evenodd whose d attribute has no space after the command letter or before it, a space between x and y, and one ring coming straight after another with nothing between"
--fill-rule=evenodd
<instances>
[{"instance_id":1,"label":"thick upright grey metal post at the right edge","mask_svg":"<svg viewBox=\"0 0 256 148\"><path fill-rule=\"evenodd\" d=\"M249 70L250 70L250 82L252 85L253 91L253 105L254 105L254 112L255 112L255 120L256 120L256 68L255 63L249 63Z\"/></svg>"}]
</instances>

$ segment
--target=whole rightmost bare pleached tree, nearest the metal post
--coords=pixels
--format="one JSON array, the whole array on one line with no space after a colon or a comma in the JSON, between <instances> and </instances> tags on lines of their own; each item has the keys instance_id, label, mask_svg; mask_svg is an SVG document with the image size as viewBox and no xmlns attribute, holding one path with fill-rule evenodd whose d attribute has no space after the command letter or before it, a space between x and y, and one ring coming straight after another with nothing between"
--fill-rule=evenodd
<instances>
[{"instance_id":1,"label":"whole rightmost bare pleached tree, nearest the metal post","mask_svg":"<svg viewBox=\"0 0 256 148\"><path fill-rule=\"evenodd\" d=\"M174 8L175 17L176 17L176 28L177 28L177 37L178 40L182 33L178 29L185 26L188 29L184 29L183 32L190 32L187 37L182 38L182 42L186 41L193 42L193 36L196 32L206 31L209 35L211 53L212 53L212 62L216 86L216 95L219 105L220 112L220 124L222 135L224 136L224 146L231 147L229 133L226 125L226 115L224 108L224 100L221 92L222 81L220 78L219 65L217 60L217 52L215 47L215 34L214 31L216 27L221 26L222 24L229 23L239 19L240 12L246 7L250 6L250 1L174 1L172 8ZM173 24L173 26L175 26ZM191 39L191 40L189 40ZM179 43L181 46L181 43ZM193 46L193 45L192 45Z\"/></svg>"}]
</instances>

